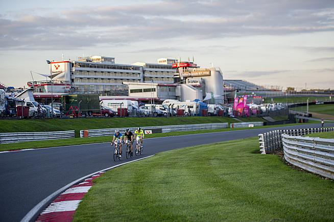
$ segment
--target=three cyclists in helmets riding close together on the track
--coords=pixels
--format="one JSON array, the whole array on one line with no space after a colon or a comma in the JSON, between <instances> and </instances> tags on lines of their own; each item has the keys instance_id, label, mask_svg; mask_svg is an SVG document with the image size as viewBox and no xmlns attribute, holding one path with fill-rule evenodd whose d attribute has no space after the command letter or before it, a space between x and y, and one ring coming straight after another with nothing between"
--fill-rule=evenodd
<instances>
[{"instance_id":1,"label":"three cyclists in helmets riding close together on the track","mask_svg":"<svg viewBox=\"0 0 334 222\"><path fill-rule=\"evenodd\" d=\"M124 138L123 138L124 137ZM119 143L120 144L120 157L122 158L122 143L127 143L130 142L130 151L131 151L131 157L133 156L133 140L134 139L138 139L140 140L140 149L142 148L142 139L144 139L144 131L142 129L140 129L140 127L138 127L134 133L132 133L130 131L129 128L127 128L125 130L124 136L122 135L122 133L120 132L120 130L115 130L115 134L113 135L112 138L112 142L111 145L115 144L115 143ZM139 151L135 151L135 152L139 152Z\"/></svg>"}]
</instances>

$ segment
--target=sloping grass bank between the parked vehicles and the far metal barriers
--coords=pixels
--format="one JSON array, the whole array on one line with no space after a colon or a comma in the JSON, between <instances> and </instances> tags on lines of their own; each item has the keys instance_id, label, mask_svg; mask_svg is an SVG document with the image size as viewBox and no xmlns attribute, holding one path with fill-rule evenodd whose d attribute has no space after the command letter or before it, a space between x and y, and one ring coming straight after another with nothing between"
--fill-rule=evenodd
<instances>
[{"instance_id":1,"label":"sloping grass bank between the parked vehicles and the far metal barriers","mask_svg":"<svg viewBox=\"0 0 334 222\"><path fill-rule=\"evenodd\" d=\"M241 118L243 120L243 118ZM248 121L249 118L247 118ZM257 119L257 118L255 118ZM257 120L256 120L257 121ZM261 120L264 121L264 120ZM78 119L2 119L0 133L13 132L46 132L75 130L76 137L80 137L80 130L147 127L186 124L210 124L215 122L237 122L228 117L191 116L171 118L78 118Z\"/></svg>"}]
</instances>

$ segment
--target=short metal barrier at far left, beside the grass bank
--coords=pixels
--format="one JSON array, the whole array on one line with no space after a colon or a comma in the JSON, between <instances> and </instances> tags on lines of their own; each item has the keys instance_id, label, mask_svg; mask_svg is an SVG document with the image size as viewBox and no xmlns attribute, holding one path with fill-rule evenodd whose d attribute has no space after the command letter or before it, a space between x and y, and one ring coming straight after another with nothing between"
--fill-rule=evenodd
<instances>
[{"instance_id":1,"label":"short metal barrier at far left, beside the grass bank","mask_svg":"<svg viewBox=\"0 0 334 222\"><path fill-rule=\"evenodd\" d=\"M0 143L74 138L74 130L57 132L0 133Z\"/></svg>"}]
</instances>

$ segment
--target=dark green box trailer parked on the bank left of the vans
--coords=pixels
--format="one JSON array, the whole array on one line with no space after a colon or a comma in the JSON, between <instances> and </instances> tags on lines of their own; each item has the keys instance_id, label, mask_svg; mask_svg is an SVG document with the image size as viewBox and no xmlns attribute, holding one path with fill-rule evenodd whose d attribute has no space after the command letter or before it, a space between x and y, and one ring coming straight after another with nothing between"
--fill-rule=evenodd
<instances>
[{"instance_id":1,"label":"dark green box trailer parked on the bank left of the vans","mask_svg":"<svg viewBox=\"0 0 334 222\"><path fill-rule=\"evenodd\" d=\"M61 95L61 103L63 105L64 113L92 116L93 114L100 114L100 100L99 94L90 93L69 93Z\"/></svg>"}]
</instances>

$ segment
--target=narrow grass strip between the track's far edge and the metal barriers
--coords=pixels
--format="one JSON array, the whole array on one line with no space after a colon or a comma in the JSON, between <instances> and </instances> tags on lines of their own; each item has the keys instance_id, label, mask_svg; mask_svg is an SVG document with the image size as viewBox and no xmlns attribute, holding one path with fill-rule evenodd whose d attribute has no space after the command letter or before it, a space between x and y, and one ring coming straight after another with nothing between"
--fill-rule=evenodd
<instances>
[{"instance_id":1,"label":"narrow grass strip between the track's far edge and the metal barriers","mask_svg":"<svg viewBox=\"0 0 334 222\"><path fill-rule=\"evenodd\" d=\"M307 122L307 124L315 123L315 122L318 123L318 121L309 121ZM254 127L254 128L234 128L234 129L224 128L224 129L217 129L217 130L197 130L197 131L180 131L180 132L170 132L170 133L154 133L154 134L145 135L145 138L180 136L180 135L189 135L189 134L198 134L198 133L225 132L225 131L245 130L245 129L249 130L249 129L294 126L294 125L300 125L300 124L263 126L263 127ZM7 144L0 144L0 152L11 151L11 150L24 150L24 149L39 149L39 148L55 147L55 146L81 145L81 144L110 142L110 141L111 141L110 136L99 136L99 137L89 137L89 138L54 139L54 140L7 143Z\"/></svg>"}]
</instances>

